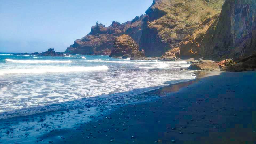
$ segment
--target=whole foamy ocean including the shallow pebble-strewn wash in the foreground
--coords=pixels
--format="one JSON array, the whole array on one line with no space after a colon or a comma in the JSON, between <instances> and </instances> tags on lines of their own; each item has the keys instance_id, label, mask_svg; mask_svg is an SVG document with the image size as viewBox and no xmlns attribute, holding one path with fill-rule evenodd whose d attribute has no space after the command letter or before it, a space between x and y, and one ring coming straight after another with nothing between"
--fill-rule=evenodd
<instances>
[{"instance_id":1,"label":"whole foamy ocean including the shallow pebble-strewn wash in the foreground","mask_svg":"<svg viewBox=\"0 0 256 144\"><path fill-rule=\"evenodd\" d=\"M60 111L73 110L72 114L76 114L73 117L71 113L58 114L58 119L69 117L62 119L69 124L64 126L58 120L57 126L54 120L55 127L51 128L72 127L113 107L145 101L151 97L138 94L194 79L193 71L180 70L189 65L184 61L131 61L98 55L51 57L0 53L0 142L26 143L21 138L25 130L16 135L11 131L22 130L27 125L38 136L42 127L33 122L48 120L50 123L52 115ZM82 117L77 117L79 109L82 109L82 121ZM7 131L11 135L3 138Z\"/></svg>"}]
</instances>

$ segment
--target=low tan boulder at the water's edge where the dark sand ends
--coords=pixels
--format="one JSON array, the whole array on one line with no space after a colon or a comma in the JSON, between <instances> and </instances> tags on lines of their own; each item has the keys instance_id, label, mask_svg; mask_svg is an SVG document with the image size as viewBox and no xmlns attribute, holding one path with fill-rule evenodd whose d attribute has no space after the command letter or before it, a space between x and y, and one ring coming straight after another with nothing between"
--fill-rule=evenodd
<instances>
[{"instance_id":1,"label":"low tan boulder at the water's edge where the dark sand ends","mask_svg":"<svg viewBox=\"0 0 256 144\"><path fill-rule=\"evenodd\" d=\"M217 70L219 66L216 62L211 60L199 60L197 63L191 63L190 70Z\"/></svg>"}]
</instances>

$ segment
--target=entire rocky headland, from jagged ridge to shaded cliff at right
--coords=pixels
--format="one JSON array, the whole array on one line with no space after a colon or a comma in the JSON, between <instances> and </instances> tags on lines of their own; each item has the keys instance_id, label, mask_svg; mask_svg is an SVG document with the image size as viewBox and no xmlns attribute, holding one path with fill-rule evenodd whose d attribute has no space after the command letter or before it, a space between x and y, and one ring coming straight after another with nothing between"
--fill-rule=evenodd
<instances>
[{"instance_id":1,"label":"entire rocky headland, from jagged ridge to shaded cliff at right","mask_svg":"<svg viewBox=\"0 0 256 144\"><path fill-rule=\"evenodd\" d=\"M126 23L113 21L109 27L97 22L66 53L131 57L131 60L200 58L216 64L225 59L239 63L256 52L255 1L154 0L145 13ZM215 64L207 64L213 67L206 70L217 69ZM197 65L202 65L202 61L191 67L205 69ZM230 67L222 70L234 71Z\"/></svg>"}]
</instances>

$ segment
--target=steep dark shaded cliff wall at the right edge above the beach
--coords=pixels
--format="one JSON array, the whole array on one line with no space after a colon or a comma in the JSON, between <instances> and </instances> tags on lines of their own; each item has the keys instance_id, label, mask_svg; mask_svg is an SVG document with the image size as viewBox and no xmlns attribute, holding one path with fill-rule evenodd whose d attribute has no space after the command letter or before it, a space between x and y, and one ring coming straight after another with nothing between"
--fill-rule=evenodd
<instances>
[{"instance_id":1,"label":"steep dark shaded cliff wall at the right edge above the beach","mask_svg":"<svg viewBox=\"0 0 256 144\"><path fill-rule=\"evenodd\" d=\"M212 59L247 57L256 52L256 1L227 0L202 39L200 54Z\"/></svg>"}]
</instances>

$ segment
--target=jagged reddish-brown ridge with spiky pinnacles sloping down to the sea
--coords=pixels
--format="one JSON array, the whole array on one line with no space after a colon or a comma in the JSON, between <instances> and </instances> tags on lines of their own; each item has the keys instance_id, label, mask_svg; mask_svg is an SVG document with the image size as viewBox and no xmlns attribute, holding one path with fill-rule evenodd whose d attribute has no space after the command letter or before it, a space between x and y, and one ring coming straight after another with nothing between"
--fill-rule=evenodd
<instances>
[{"instance_id":1,"label":"jagged reddish-brown ridge with spiky pinnacles sloping down to the sea","mask_svg":"<svg viewBox=\"0 0 256 144\"><path fill-rule=\"evenodd\" d=\"M97 22L95 26L91 27L89 34L82 39L74 41L74 44L68 47L65 52L69 54L110 55L115 39L122 34L131 36L139 43L144 17L145 15L141 15L141 17L135 17L132 21L122 24L113 21L109 27Z\"/></svg>"}]
</instances>

